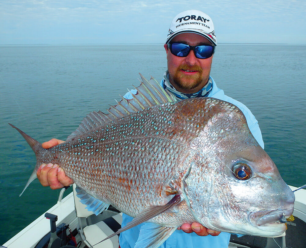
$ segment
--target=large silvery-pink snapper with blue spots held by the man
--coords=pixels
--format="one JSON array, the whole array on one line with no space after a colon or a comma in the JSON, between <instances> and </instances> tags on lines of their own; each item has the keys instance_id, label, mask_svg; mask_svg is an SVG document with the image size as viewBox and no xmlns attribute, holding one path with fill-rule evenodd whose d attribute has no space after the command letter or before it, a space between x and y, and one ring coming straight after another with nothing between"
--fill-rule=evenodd
<instances>
[{"instance_id":1,"label":"large silvery-pink snapper with blue spots held by the man","mask_svg":"<svg viewBox=\"0 0 306 248\"><path fill-rule=\"evenodd\" d=\"M238 234L282 234L294 194L248 129L214 98L176 101L145 80L132 100L93 112L50 149L17 129L41 163L57 163L96 214L109 204L142 222L136 247L158 247L183 223ZM24 188L24 190L25 190ZM22 193L21 193L22 194Z\"/></svg>"}]
</instances>

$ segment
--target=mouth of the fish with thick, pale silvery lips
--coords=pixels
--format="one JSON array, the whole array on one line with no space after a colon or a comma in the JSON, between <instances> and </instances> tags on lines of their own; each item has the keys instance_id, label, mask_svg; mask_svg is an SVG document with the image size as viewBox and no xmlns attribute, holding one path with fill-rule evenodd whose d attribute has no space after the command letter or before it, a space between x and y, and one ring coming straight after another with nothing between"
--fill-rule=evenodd
<instances>
[{"instance_id":1,"label":"mouth of the fish with thick, pale silvery lips","mask_svg":"<svg viewBox=\"0 0 306 248\"><path fill-rule=\"evenodd\" d=\"M251 212L248 216L248 220L252 226L259 229L265 229L265 227L277 227L278 225L285 226L284 219L289 218L293 213L293 207L288 209L275 209L267 211Z\"/></svg>"}]
</instances>

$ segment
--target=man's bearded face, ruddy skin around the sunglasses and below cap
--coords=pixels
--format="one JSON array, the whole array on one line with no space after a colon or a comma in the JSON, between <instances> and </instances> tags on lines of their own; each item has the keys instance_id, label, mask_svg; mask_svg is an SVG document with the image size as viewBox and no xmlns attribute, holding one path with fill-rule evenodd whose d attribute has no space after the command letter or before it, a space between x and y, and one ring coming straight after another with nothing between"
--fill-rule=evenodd
<instances>
[{"instance_id":1,"label":"man's bearded face, ruddy skin around the sunglasses and below cap","mask_svg":"<svg viewBox=\"0 0 306 248\"><path fill-rule=\"evenodd\" d=\"M212 45L205 37L196 33L182 33L171 42L181 42L191 46ZM164 45L167 53L168 72L171 85L182 93L195 93L203 88L208 81L211 62L210 58L196 58L193 51L187 57L178 57Z\"/></svg>"}]
</instances>

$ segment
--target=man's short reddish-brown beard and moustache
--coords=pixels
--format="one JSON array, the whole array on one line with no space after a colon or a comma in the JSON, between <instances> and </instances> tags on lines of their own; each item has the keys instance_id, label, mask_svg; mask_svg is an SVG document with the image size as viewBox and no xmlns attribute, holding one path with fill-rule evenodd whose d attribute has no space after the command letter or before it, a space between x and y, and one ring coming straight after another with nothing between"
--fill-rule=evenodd
<instances>
[{"instance_id":1,"label":"man's short reddish-brown beard and moustache","mask_svg":"<svg viewBox=\"0 0 306 248\"><path fill-rule=\"evenodd\" d=\"M197 73L195 75L184 75L181 73L181 70L197 71ZM178 85L180 88L193 89L196 88L198 85L200 85L201 82L203 81L202 71L203 71L202 68L197 65L194 66L181 65L177 69L172 80L174 81L174 84Z\"/></svg>"}]
</instances>

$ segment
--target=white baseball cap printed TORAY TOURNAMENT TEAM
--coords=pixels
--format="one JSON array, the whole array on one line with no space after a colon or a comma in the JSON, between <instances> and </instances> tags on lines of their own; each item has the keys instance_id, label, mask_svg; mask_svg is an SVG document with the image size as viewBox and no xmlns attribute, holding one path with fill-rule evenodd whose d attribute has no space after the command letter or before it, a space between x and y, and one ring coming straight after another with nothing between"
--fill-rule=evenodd
<instances>
[{"instance_id":1,"label":"white baseball cap printed TORAY TOURNAMENT TEAM","mask_svg":"<svg viewBox=\"0 0 306 248\"><path fill-rule=\"evenodd\" d=\"M199 10L186 10L174 17L167 35L166 44L180 33L196 33L207 38L215 46L217 39L211 18Z\"/></svg>"}]
</instances>

